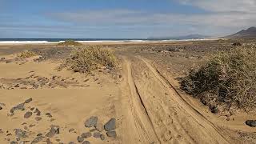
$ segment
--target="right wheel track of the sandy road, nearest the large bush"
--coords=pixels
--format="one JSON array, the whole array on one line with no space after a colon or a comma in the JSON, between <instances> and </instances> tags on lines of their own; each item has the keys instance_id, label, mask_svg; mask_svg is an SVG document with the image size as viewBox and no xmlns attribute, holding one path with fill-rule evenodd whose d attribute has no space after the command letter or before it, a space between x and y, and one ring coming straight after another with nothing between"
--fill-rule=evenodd
<instances>
[{"instance_id":1,"label":"right wheel track of the sandy road, nearest the large bush","mask_svg":"<svg viewBox=\"0 0 256 144\"><path fill-rule=\"evenodd\" d=\"M178 91L175 90L174 86L172 86L171 83L158 72L158 70L154 69L154 67L147 62L146 58L138 57L138 59L146 65L146 69L148 69L146 72L152 76L152 78L148 78L146 80L146 77L140 77L144 78L144 80L140 79L140 81L145 83L146 86L138 87L138 93L140 92L142 94L142 102L146 101L143 102L145 109L149 109L149 116L152 117L150 119L153 121L153 126L155 127L161 142L229 143L226 141L226 138L222 136L222 134L218 133L218 130L214 124L208 121L192 106L190 106L182 98L182 96L178 94ZM154 86L150 86L150 84ZM138 82L138 86L139 85L141 84ZM149 87L150 89L155 88L158 90L153 90L152 92L152 90L146 89L145 87ZM168 96L165 97L164 95L161 95L159 90L167 90ZM150 102L150 98L143 98L148 97L150 94L154 94L154 91L158 91L159 103ZM170 103L165 102L168 100ZM156 111L155 109L159 110ZM176 113L175 118L172 119L176 123L170 123L167 120L170 118L170 111L172 110L174 110L174 113ZM157 114L159 112L161 112L161 114ZM170 134L171 136L169 136L169 140L166 139L166 130L170 130L174 133ZM179 136L181 136L183 139L178 138Z\"/></svg>"}]
</instances>

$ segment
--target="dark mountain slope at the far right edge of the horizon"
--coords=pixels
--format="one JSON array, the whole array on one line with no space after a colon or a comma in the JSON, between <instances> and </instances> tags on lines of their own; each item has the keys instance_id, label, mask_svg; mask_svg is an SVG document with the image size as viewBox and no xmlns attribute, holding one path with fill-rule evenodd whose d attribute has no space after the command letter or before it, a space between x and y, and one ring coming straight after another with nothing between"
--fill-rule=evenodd
<instances>
[{"instance_id":1,"label":"dark mountain slope at the far right edge of the horizon","mask_svg":"<svg viewBox=\"0 0 256 144\"><path fill-rule=\"evenodd\" d=\"M247 30L238 31L235 34L228 35L224 38L256 38L256 27L250 27Z\"/></svg>"}]
</instances>

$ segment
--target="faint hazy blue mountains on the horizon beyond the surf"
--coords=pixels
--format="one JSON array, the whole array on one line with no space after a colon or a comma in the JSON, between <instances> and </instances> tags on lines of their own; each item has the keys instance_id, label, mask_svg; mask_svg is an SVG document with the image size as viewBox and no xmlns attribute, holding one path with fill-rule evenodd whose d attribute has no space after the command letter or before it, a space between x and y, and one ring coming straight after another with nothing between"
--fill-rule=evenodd
<instances>
[{"instance_id":1,"label":"faint hazy blue mountains on the horizon beyond the surf","mask_svg":"<svg viewBox=\"0 0 256 144\"><path fill-rule=\"evenodd\" d=\"M150 37L148 39L173 39L173 40L182 40L182 39L204 39L210 38L210 36L201 35L201 34L190 34L184 36L177 36L177 37Z\"/></svg>"}]
</instances>

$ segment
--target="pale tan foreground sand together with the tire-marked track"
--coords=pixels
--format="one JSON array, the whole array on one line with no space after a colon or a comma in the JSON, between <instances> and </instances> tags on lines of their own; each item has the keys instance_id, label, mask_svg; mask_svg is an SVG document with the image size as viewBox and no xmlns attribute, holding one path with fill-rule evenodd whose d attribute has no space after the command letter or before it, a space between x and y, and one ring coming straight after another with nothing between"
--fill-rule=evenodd
<instances>
[{"instance_id":1,"label":"pale tan foreground sand together with the tire-marked track","mask_svg":"<svg viewBox=\"0 0 256 144\"><path fill-rule=\"evenodd\" d=\"M121 59L121 76L105 70L93 75L58 71L56 61L0 62L0 103L6 105L0 110L0 143L15 140L14 129L26 130L28 137L22 140L30 143L37 134L46 135L52 125L60 127L60 134L51 142L78 143L78 135L92 129L84 126L91 116L103 124L116 118L118 134L104 141L87 138L91 143L242 143L234 138L238 135L233 129L254 131L207 114L148 59L129 54ZM27 98L33 101L26 109L10 116L10 109ZM42 120L36 121L35 114L24 118L33 107L42 112ZM102 134L106 136L105 131ZM39 143L46 143L46 138Z\"/></svg>"}]
</instances>

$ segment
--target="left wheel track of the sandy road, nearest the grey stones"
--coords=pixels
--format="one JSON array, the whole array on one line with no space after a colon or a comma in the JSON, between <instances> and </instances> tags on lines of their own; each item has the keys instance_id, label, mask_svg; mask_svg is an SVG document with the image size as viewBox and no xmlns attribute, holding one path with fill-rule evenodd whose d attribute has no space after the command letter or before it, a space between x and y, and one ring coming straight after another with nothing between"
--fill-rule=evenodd
<instances>
[{"instance_id":1,"label":"left wheel track of the sandy road, nearest the grey stones","mask_svg":"<svg viewBox=\"0 0 256 144\"><path fill-rule=\"evenodd\" d=\"M129 98L129 107L124 108L124 110L128 110L126 112L128 119L126 119L126 130L124 132L126 134L129 134L127 140L130 142L140 142L140 143L160 143L158 136L156 132L154 131L153 123L150 120L150 117L148 116L148 112L145 109L144 103L142 102L142 98L140 97L140 94L138 94L138 88L134 83L134 79L132 76L132 70L131 70L131 64L129 61L124 59L124 68L126 69L125 75L125 83L128 85L124 90L124 94L128 94ZM127 91L128 90L128 91ZM127 124L128 123L128 124ZM128 127L128 125L130 127ZM135 130L135 131L134 131ZM137 137L138 140L130 140L131 138Z\"/></svg>"}]
</instances>

